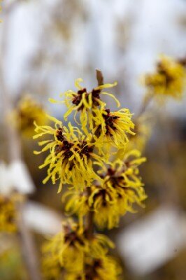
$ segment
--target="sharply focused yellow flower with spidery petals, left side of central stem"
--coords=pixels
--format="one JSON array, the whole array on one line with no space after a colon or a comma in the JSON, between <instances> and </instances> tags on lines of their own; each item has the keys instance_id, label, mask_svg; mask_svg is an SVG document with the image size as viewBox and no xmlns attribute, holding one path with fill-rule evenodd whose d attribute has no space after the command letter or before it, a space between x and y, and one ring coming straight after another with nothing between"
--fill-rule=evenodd
<instances>
[{"instance_id":1,"label":"sharply focused yellow flower with spidery petals, left side of central stem","mask_svg":"<svg viewBox=\"0 0 186 280\"><path fill-rule=\"evenodd\" d=\"M51 139L41 141L38 144L44 148L35 154L50 151L40 168L48 166L48 176L43 180L46 183L50 178L55 184L60 180L59 192L64 183L73 185L74 188L83 190L85 186L90 186L92 181L99 176L94 172L93 161L101 162L101 157L94 152L94 143L92 135L85 137L78 127L65 127L61 121L48 116L55 122L55 128L50 126L36 125L36 134L34 139L49 134ZM104 159L105 160L105 159Z\"/></svg>"}]
</instances>

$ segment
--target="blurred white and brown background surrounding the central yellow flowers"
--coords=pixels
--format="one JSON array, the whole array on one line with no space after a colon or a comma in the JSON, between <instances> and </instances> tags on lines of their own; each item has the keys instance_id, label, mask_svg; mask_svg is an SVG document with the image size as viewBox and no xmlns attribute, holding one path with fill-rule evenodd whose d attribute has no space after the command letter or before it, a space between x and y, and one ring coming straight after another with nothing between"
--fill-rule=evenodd
<instances>
[{"instance_id":1,"label":"blurred white and brown background surrounding the central yellow flowers","mask_svg":"<svg viewBox=\"0 0 186 280\"><path fill-rule=\"evenodd\" d=\"M117 80L113 92L135 118L145 93L141 76L155 69L160 54L178 59L186 55L186 1L4 0L1 6L0 186L12 184L5 176L10 156L21 155L27 167L20 172L21 192L29 197L26 220L40 246L43 234L51 233L52 225L54 232L59 227L62 195L56 194L57 186L43 186L45 170L38 169L43 155L33 154L38 147L28 134L16 140L9 132L7 113L16 111L29 94L48 113L62 118L65 107L50 104L48 98L74 90L76 78L92 89L95 69L101 69L106 83ZM141 168L146 207L127 214L120 228L107 233L117 243L113 254L124 268L122 279L185 280L186 98L167 99L164 106L152 102L148 112L150 137L143 148L148 161ZM16 244L8 241L4 248L4 238L0 279L27 279L20 274L24 269Z\"/></svg>"}]
</instances>

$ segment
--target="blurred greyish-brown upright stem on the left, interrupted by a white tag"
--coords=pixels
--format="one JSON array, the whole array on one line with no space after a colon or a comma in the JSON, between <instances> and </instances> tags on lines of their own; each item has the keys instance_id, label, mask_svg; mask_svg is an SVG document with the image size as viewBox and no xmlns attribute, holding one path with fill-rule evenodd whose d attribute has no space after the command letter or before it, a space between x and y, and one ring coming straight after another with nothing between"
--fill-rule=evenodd
<instances>
[{"instance_id":1,"label":"blurred greyish-brown upright stem on the left, interrupted by a white tag","mask_svg":"<svg viewBox=\"0 0 186 280\"><path fill-rule=\"evenodd\" d=\"M18 2L18 1L16 1ZM4 61L3 58L6 55L6 35L8 34L8 17L6 17L6 22L3 22L1 26L2 30L2 41L1 41L1 61L0 61L0 83L1 83L1 100L3 106L3 116L5 120L5 127L6 127L6 137L7 137L7 144L8 144L8 158L10 162L14 160L21 160L21 143L20 137L13 125L7 122L7 116L12 111L13 106L10 100L10 94L8 92L8 88L6 86L6 81L3 74L3 66ZM27 226L24 223L24 219L22 217L22 208L24 206L24 202L17 202L17 228L20 235L20 246L22 250L23 260L27 267L27 272L29 274L29 279L31 280L40 280L41 276L38 270L38 260L36 258L36 248L34 245L34 240L27 229Z\"/></svg>"}]
</instances>

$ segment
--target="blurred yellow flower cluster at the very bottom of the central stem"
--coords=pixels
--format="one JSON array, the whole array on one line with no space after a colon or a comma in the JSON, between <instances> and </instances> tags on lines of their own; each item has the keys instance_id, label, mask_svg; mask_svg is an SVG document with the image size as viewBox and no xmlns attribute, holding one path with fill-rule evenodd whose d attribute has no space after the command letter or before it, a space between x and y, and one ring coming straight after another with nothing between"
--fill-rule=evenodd
<instances>
[{"instance_id":1,"label":"blurred yellow flower cluster at the very bottom of the central stem","mask_svg":"<svg viewBox=\"0 0 186 280\"><path fill-rule=\"evenodd\" d=\"M117 279L120 267L107 255L113 243L101 234L87 238L86 230L68 221L63 231L43 246L46 279Z\"/></svg>"}]
</instances>

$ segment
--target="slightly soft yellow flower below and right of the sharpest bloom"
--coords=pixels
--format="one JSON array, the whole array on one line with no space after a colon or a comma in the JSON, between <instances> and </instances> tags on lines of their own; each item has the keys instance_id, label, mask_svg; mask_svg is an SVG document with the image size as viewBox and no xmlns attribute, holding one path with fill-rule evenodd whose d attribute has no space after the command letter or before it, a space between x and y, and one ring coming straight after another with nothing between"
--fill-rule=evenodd
<instances>
[{"instance_id":1,"label":"slightly soft yellow flower below and right of the sharpest bloom","mask_svg":"<svg viewBox=\"0 0 186 280\"><path fill-rule=\"evenodd\" d=\"M101 167L101 181L89 187L90 193L87 190L67 191L63 196L65 210L80 217L94 211L94 223L99 228L111 229L117 227L120 217L127 211L136 211L134 204L144 207L142 202L146 195L138 165L145 162L145 158L136 150L123 157L123 160L117 159L107 167Z\"/></svg>"}]
</instances>

